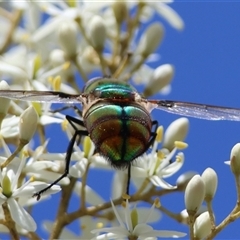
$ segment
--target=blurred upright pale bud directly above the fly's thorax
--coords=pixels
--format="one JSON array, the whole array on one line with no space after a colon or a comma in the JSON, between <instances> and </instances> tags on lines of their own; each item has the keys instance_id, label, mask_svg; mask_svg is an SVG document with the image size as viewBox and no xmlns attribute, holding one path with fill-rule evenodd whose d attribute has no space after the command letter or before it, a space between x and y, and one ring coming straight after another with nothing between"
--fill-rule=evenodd
<instances>
[{"instance_id":1,"label":"blurred upright pale bud directly above the fly's thorax","mask_svg":"<svg viewBox=\"0 0 240 240\"><path fill-rule=\"evenodd\" d=\"M102 52L106 39L106 27L100 16L95 15L89 23L89 37L93 47Z\"/></svg>"}]
</instances>

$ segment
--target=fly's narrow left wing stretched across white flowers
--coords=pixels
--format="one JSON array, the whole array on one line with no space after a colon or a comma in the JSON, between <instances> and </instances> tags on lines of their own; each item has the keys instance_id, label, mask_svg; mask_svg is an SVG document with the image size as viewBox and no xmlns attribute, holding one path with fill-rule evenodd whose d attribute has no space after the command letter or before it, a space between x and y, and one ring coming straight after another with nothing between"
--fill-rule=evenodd
<instances>
[{"instance_id":1,"label":"fly's narrow left wing stretched across white flowers","mask_svg":"<svg viewBox=\"0 0 240 240\"><path fill-rule=\"evenodd\" d=\"M0 98L1 97L33 102L81 103L80 95L54 91L0 90Z\"/></svg>"}]
</instances>

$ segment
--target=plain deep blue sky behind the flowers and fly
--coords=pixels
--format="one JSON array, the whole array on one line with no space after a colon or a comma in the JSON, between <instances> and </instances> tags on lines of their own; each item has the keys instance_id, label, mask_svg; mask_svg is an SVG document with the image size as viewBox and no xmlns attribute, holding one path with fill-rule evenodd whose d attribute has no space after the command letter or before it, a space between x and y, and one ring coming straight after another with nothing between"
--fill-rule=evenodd
<instances>
[{"instance_id":1,"label":"plain deep blue sky behind the flowers and fly","mask_svg":"<svg viewBox=\"0 0 240 240\"><path fill-rule=\"evenodd\" d=\"M166 22L166 35L159 48L161 59L156 64L171 63L175 66L172 92L166 98L211 105L240 108L240 3L234 2L175 2L171 4L185 22L181 32L171 28ZM154 20L159 20L156 17ZM160 19L162 20L162 19ZM153 119L165 128L177 115L155 110ZM195 170L200 174L207 168L215 169L219 177L219 186L213 201L216 222L220 223L231 211L236 202L234 178L224 161L229 159L231 148L240 142L240 123L227 121L206 121L190 118L190 131L187 137L189 148L185 150L185 165L174 177L172 184L185 171ZM49 135L54 136L54 132ZM109 178L107 177L109 176ZM101 194L109 197L110 175L105 172L93 172L89 177L90 186L96 183L106 188ZM121 184L121 183L119 183ZM99 190L100 191L100 190ZM53 199L57 199L56 196ZM162 205L179 212L184 209L184 196L175 194L161 199ZM46 210L52 202L39 204L34 216L46 216ZM74 201L71 208L74 208ZM77 203L78 204L78 203ZM43 214L43 215L42 215ZM51 216L48 216L51 218ZM239 238L239 223L233 223L217 239ZM73 224L73 228L78 227ZM168 217L163 216L158 229L187 231ZM39 226L39 232L42 233ZM44 235L42 235L44 237Z\"/></svg>"}]
</instances>

